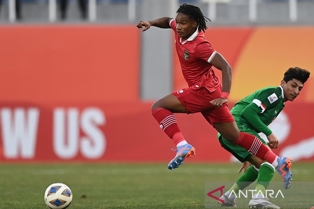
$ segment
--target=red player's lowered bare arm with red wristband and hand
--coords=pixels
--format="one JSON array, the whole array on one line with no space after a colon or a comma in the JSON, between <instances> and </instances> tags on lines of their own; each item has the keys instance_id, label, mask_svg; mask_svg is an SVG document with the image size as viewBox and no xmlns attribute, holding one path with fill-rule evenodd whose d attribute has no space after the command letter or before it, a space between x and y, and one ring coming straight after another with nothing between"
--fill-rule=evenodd
<instances>
[{"instance_id":1,"label":"red player's lowered bare arm with red wristband and hand","mask_svg":"<svg viewBox=\"0 0 314 209\"><path fill-rule=\"evenodd\" d=\"M225 58L218 52L215 54L214 58L210 61L215 68L222 71L222 92L229 95L232 82L232 68ZM222 107L223 104L228 102L228 98L221 97L219 99L214 99L210 103L214 107Z\"/></svg>"}]
</instances>

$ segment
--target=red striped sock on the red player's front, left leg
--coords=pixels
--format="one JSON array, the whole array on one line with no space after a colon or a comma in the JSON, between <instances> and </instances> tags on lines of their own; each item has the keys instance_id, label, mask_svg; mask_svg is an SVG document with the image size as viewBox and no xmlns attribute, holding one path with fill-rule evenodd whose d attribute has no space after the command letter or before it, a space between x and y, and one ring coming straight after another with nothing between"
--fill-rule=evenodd
<instances>
[{"instance_id":1,"label":"red striped sock on the red player's front, left leg","mask_svg":"<svg viewBox=\"0 0 314 209\"><path fill-rule=\"evenodd\" d=\"M174 141L177 145L185 140L176 122L176 117L165 108L155 108L152 110L154 118L159 123L160 128Z\"/></svg>"}]
</instances>

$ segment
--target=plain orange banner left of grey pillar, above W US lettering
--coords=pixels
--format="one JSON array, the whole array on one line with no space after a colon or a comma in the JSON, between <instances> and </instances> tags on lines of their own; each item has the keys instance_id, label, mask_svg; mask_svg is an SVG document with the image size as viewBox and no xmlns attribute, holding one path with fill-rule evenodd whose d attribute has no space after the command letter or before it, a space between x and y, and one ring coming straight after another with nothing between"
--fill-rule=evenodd
<instances>
[{"instance_id":1,"label":"plain orange banner left of grey pillar, above W US lettering","mask_svg":"<svg viewBox=\"0 0 314 209\"><path fill-rule=\"evenodd\" d=\"M113 26L8 26L0 31L0 102L139 99L136 27L120 25L117 32Z\"/></svg>"}]
</instances>

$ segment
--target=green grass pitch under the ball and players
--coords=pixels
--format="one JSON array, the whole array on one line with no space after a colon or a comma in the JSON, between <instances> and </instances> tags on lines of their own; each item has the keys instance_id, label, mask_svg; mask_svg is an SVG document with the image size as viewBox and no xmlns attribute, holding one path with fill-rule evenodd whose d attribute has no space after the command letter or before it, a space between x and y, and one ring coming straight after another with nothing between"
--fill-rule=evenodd
<instances>
[{"instance_id":1,"label":"green grass pitch under the ball and players","mask_svg":"<svg viewBox=\"0 0 314 209\"><path fill-rule=\"evenodd\" d=\"M313 181L314 164L294 163L293 183ZM205 208L205 182L235 181L240 164L1 164L0 209L48 208L51 183L67 184L77 208ZM273 181L281 181L275 174ZM292 185L293 186L293 185ZM284 189L283 189L284 190ZM295 201L302 194L295 195ZM311 197L312 195L310 195ZM280 206L280 202L276 202ZM284 202L281 202L284 204ZM298 205L310 209L313 199ZM247 205L244 206L248 208Z\"/></svg>"}]
</instances>

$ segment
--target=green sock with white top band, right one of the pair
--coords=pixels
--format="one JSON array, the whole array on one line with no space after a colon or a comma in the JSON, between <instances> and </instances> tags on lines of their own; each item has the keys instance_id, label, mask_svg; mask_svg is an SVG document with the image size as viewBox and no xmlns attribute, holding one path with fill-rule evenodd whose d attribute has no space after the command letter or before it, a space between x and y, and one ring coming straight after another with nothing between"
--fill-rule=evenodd
<instances>
[{"instance_id":1,"label":"green sock with white top band, right one of the pair","mask_svg":"<svg viewBox=\"0 0 314 209\"><path fill-rule=\"evenodd\" d=\"M266 188L273 178L275 168L268 162L262 163L258 170L257 184L255 187L254 198L261 198L261 193L265 196ZM259 192L260 191L260 192ZM259 193L259 194L258 194Z\"/></svg>"}]
</instances>

